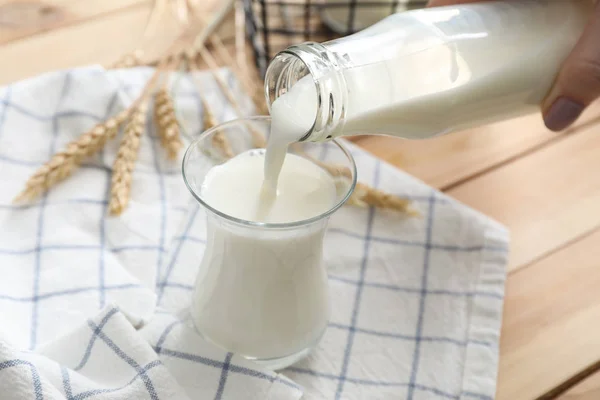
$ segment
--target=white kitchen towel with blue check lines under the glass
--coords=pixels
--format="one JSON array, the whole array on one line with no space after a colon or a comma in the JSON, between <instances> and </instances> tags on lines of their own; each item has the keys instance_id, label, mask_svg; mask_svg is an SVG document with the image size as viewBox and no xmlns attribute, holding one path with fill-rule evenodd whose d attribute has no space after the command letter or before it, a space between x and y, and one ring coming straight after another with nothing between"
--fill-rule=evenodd
<instances>
[{"instance_id":1,"label":"white kitchen towel with blue check lines under the glass","mask_svg":"<svg viewBox=\"0 0 600 400\"><path fill-rule=\"evenodd\" d=\"M36 167L123 109L150 73L90 67L0 89L0 398L493 398L505 229L356 147L360 179L411 197L423 217L353 207L333 216L329 328L279 374L206 343L184 318L205 218L151 118L121 217L106 216L117 142L35 203L11 203ZM177 79L190 136L201 130L198 84L222 121L236 117L210 75Z\"/></svg>"}]
</instances>

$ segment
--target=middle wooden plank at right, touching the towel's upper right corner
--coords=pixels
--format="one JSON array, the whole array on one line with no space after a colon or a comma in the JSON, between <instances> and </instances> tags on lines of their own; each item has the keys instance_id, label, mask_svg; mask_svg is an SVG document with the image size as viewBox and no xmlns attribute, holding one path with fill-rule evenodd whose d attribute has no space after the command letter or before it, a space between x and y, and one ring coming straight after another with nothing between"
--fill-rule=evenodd
<instances>
[{"instance_id":1,"label":"middle wooden plank at right, touching the towel's upper right corner","mask_svg":"<svg viewBox=\"0 0 600 400\"><path fill-rule=\"evenodd\" d=\"M591 124L448 191L510 229L509 269L600 225L598 130L597 123Z\"/></svg>"}]
</instances>

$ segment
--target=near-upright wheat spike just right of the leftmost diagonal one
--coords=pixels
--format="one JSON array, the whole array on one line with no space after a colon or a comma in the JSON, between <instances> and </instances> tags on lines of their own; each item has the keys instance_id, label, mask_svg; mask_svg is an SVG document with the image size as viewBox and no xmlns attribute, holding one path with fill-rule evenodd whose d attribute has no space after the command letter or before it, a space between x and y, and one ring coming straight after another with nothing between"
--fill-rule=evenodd
<instances>
[{"instance_id":1,"label":"near-upright wheat spike just right of the leftmost diagonal one","mask_svg":"<svg viewBox=\"0 0 600 400\"><path fill-rule=\"evenodd\" d=\"M132 114L123 131L123 139L113 164L108 209L111 215L119 215L129 203L131 176L135 167L140 139L144 133L146 103L141 104Z\"/></svg>"}]
</instances>

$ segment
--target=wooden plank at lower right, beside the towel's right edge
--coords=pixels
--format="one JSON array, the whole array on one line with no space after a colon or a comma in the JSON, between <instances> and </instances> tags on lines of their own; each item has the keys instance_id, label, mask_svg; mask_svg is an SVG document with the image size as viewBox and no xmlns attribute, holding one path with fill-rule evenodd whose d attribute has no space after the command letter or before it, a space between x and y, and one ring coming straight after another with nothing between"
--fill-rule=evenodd
<instances>
[{"instance_id":1,"label":"wooden plank at lower right, beside the towel's right edge","mask_svg":"<svg viewBox=\"0 0 600 400\"><path fill-rule=\"evenodd\" d=\"M509 276L497 400L537 399L600 360L599 244L600 230Z\"/></svg>"}]
</instances>

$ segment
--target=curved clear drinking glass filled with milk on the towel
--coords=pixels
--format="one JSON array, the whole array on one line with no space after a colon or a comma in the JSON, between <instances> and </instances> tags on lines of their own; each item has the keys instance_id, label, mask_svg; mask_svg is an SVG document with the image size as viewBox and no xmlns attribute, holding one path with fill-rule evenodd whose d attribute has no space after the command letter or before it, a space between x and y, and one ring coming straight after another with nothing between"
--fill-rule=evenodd
<instances>
[{"instance_id":1,"label":"curved clear drinking glass filled with milk on the towel","mask_svg":"<svg viewBox=\"0 0 600 400\"><path fill-rule=\"evenodd\" d=\"M354 189L356 167L335 141L293 145L269 201L265 150L253 142L270 129L269 117L252 117L203 133L184 156L183 175L207 214L194 326L227 351L279 369L305 356L327 326L323 238Z\"/></svg>"}]
</instances>

